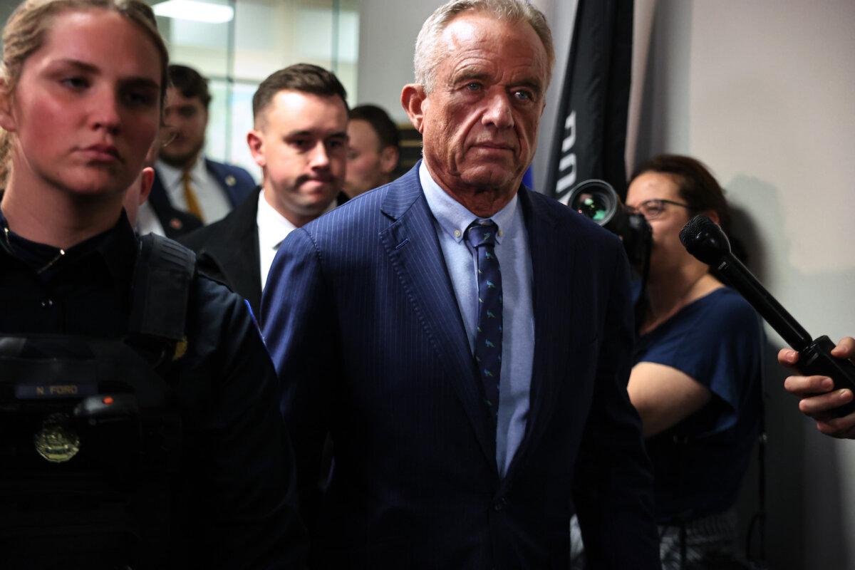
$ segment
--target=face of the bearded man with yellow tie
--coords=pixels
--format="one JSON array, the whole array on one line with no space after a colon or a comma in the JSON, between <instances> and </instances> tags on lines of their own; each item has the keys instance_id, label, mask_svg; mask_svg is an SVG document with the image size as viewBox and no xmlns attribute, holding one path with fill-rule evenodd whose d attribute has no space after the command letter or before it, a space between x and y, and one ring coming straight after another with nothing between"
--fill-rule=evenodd
<instances>
[{"instance_id":1,"label":"face of the bearded man with yellow tie","mask_svg":"<svg viewBox=\"0 0 855 570\"><path fill-rule=\"evenodd\" d=\"M205 144L208 109L199 97L184 97L174 87L166 93L163 122L171 135L160 151L164 162L174 167L189 167Z\"/></svg>"}]
</instances>

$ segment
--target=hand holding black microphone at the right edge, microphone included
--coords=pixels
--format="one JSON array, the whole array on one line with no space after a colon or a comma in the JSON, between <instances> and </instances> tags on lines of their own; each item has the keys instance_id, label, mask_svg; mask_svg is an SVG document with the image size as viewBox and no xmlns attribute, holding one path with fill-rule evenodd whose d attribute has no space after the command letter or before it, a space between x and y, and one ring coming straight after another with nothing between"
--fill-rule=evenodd
<instances>
[{"instance_id":1,"label":"hand holding black microphone at the right edge, microphone included","mask_svg":"<svg viewBox=\"0 0 855 570\"><path fill-rule=\"evenodd\" d=\"M696 215L683 227L680 241L700 261L716 267L742 297L769 323L793 351L781 350L782 364L796 367L804 376L787 379L787 391L805 397L799 407L817 419L817 428L835 437L855 437L855 340L841 341L835 349L827 336L811 336L730 251L722 228L705 215ZM850 342L851 341L851 342ZM832 352L834 351L834 354ZM820 378L823 377L823 378ZM831 385L825 382L831 380ZM841 389L848 389L842 391ZM830 395L828 392L834 391ZM831 405L837 398L837 406ZM844 417L845 416L845 417Z\"/></svg>"}]
</instances>

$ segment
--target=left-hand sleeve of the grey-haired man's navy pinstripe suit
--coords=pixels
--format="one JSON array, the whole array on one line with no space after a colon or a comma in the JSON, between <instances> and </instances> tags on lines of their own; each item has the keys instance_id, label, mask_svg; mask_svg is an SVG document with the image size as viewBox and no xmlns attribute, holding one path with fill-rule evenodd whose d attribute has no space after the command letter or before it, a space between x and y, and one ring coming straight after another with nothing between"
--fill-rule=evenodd
<instances>
[{"instance_id":1,"label":"left-hand sleeve of the grey-haired man's navy pinstripe suit","mask_svg":"<svg viewBox=\"0 0 855 570\"><path fill-rule=\"evenodd\" d=\"M338 326L321 256L304 229L291 232L270 268L262 332L280 380L280 409L294 441L300 511L310 529L320 502L321 450L330 386L339 378Z\"/></svg>"}]
</instances>

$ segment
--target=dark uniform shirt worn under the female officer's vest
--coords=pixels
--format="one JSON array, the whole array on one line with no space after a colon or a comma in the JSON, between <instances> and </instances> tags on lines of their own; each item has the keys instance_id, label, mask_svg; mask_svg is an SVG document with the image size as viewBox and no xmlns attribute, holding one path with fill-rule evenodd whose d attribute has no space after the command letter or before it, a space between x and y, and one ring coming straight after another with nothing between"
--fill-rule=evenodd
<instances>
[{"instance_id":1,"label":"dark uniform shirt worn under the female officer's vest","mask_svg":"<svg viewBox=\"0 0 855 570\"><path fill-rule=\"evenodd\" d=\"M0 337L126 334L139 240L125 214L68 250L16 236L2 213L0 227ZM237 295L201 276L192 278L185 323L186 347L165 373L180 418L161 529L168 547L147 559L157 567L301 567L291 446L257 326ZM0 461L0 479L3 470ZM9 539L8 530L0 528L0 537ZM3 563L6 556L0 550L0 567L14 567ZM62 551L45 560L73 566Z\"/></svg>"}]
</instances>

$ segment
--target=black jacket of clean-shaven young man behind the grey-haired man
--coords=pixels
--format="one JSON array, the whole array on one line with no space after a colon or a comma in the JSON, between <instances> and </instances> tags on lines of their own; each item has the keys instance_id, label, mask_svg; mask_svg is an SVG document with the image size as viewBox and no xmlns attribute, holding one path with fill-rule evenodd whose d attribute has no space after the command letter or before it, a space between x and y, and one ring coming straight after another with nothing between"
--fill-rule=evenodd
<instances>
[{"instance_id":1,"label":"black jacket of clean-shaven young man behind the grey-haired man","mask_svg":"<svg viewBox=\"0 0 855 570\"><path fill-rule=\"evenodd\" d=\"M258 314L262 278L258 254L258 191L251 192L230 214L179 238L196 252L198 271L228 285Z\"/></svg>"}]
</instances>

